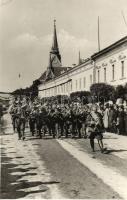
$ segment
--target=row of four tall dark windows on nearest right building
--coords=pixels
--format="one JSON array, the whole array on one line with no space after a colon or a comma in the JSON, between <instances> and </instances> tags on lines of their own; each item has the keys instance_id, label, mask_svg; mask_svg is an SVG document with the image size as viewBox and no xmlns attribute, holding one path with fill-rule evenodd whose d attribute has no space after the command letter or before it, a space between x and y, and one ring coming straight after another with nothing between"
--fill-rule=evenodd
<instances>
[{"instance_id":1,"label":"row of four tall dark windows on nearest right building","mask_svg":"<svg viewBox=\"0 0 127 200\"><path fill-rule=\"evenodd\" d=\"M125 76L125 65L124 65L124 61L121 61L121 78L124 78ZM97 71L98 75L98 83L100 82L100 70ZM112 81L115 80L115 65L112 65ZM106 67L104 68L104 82L107 81L107 71L106 71Z\"/></svg>"}]
</instances>

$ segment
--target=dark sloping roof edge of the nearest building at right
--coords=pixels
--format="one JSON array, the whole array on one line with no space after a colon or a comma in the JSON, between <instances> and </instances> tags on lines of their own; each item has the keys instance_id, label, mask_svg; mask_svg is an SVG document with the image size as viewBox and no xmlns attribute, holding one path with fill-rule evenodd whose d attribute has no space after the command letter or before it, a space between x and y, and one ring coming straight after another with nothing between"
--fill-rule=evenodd
<instances>
[{"instance_id":1,"label":"dark sloping roof edge of the nearest building at right","mask_svg":"<svg viewBox=\"0 0 127 200\"><path fill-rule=\"evenodd\" d=\"M101 51L99 51L99 52L93 54L93 55L91 56L91 58L94 60L94 59L96 59L96 58L102 56L103 54L108 53L108 52L110 52L111 50L117 48L118 46L124 44L125 42L127 42L127 36L121 38L121 39L118 40L117 42L111 44L110 46L108 46L108 47L106 47L106 48L104 48L104 49L102 49Z\"/></svg>"}]
</instances>

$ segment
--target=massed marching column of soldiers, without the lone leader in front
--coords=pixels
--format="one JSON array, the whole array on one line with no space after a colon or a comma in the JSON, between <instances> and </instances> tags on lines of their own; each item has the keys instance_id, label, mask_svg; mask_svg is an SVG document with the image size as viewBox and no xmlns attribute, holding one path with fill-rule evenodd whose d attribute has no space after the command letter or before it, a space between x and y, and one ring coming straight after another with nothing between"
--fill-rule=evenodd
<instances>
[{"instance_id":1,"label":"massed marching column of soldiers, without the lone leader in front","mask_svg":"<svg viewBox=\"0 0 127 200\"><path fill-rule=\"evenodd\" d=\"M20 133L22 125L24 132L25 123L29 121L30 132L32 135L37 132L40 138L46 133L53 138L60 138L62 135L67 138L69 134L71 137L78 135L81 138L81 128L85 130L87 112L87 108L81 105L42 104L38 101L31 102L29 99L16 99L10 108L14 131Z\"/></svg>"}]
</instances>

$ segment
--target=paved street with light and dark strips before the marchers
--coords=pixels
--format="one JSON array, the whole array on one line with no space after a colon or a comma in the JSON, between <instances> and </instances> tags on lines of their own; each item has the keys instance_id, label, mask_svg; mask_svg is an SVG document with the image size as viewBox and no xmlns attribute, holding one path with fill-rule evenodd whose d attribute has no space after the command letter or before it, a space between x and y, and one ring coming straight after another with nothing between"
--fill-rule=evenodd
<instances>
[{"instance_id":1,"label":"paved street with light and dark strips before the marchers","mask_svg":"<svg viewBox=\"0 0 127 200\"><path fill-rule=\"evenodd\" d=\"M107 154L89 140L17 140L9 115L1 131L2 198L127 199L127 137L106 133Z\"/></svg>"}]
</instances>

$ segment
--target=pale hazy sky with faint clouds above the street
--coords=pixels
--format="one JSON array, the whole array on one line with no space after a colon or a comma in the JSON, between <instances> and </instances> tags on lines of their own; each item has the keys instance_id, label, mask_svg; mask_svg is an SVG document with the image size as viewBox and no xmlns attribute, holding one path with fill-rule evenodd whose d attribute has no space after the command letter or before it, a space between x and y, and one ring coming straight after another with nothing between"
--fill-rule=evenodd
<instances>
[{"instance_id":1,"label":"pale hazy sky with faint clouds above the street","mask_svg":"<svg viewBox=\"0 0 127 200\"><path fill-rule=\"evenodd\" d=\"M127 35L127 0L0 0L0 91L29 87L48 66L56 19L63 66ZM19 74L21 77L19 78Z\"/></svg>"}]
</instances>

